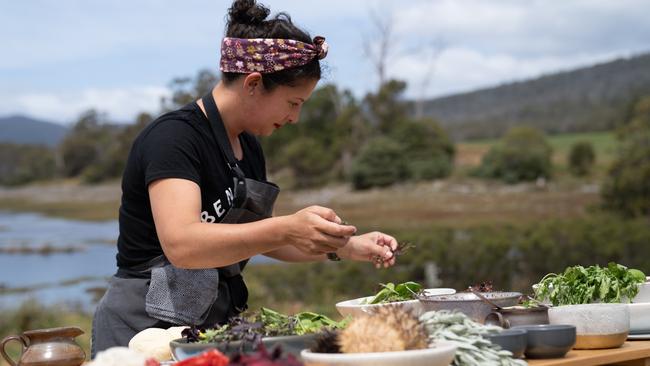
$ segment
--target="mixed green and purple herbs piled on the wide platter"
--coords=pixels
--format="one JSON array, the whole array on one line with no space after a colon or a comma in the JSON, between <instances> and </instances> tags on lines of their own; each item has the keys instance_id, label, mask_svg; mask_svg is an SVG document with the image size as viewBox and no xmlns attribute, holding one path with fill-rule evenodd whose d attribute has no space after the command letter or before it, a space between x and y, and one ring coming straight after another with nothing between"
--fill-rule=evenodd
<instances>
[{"instance_id":1,"label":"mixed green and purple herbs piled on the wide platter","mask_svg":"<svg viewBox=\"0 0 650 366\"><path fill-rule=\"evenodd\" d=\"M185 329L183 338L190 343L244 341L257 344L263 337L317 333L324 329L343 328L347 322L348 319L337 322L325 315L308 311L286 315L268 308L261 308L252 316L233 317L226 324L215 328Z\"/></svg>"}]
</instances>

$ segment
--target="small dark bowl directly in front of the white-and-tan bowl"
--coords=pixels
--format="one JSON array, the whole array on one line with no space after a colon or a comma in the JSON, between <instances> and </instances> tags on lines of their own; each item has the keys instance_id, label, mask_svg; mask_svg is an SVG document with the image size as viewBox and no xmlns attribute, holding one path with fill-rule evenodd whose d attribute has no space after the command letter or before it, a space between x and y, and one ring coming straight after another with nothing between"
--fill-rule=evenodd
<instances>
[{"instance_id":1,"label":"small dark bowl directly in front of the white-and-tan bowl","mask_svg":"<svg viewBox=\"0 0 650 366\"><path fill-rule=\"evenodd\" d=\"M567 324L519 325L527 331L526 358L560 358L576 343L576 327Z\"/></svg>"}]
</instances>

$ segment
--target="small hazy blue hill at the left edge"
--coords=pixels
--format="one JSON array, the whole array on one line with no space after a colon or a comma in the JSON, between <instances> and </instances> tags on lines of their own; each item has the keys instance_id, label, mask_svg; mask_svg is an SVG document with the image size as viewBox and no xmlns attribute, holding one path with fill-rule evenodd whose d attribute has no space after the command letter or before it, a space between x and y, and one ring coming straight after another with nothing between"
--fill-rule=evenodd
<instances>
[{"instance_id":1,"label":"small hazy blue hill at the left edge","mask_svg":"<svg viewBox=\"0 0 650 366\"><path fill-rule=\"evenodd\" d=\"M0 117L0 142L55 146L68 132L60 124L24 116Z\"/></svg>"}]
</instances>

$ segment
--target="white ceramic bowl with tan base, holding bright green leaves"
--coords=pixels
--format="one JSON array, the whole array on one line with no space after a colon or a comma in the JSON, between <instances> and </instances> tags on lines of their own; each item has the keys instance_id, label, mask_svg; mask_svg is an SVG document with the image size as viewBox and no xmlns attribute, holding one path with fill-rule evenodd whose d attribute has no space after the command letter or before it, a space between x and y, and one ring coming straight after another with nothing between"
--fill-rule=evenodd
<instances>
[{"instance_id":1,"label":"white ceramic bowl with tan base, holding bright green leaves","mask_svg":"<svg viewBox=\"0 0 650 366\"><path fill-rule=\"evenodd\" d=\"M576 327L576 349L620 347L630 332L628 304L564 305L548 310L551 324Z\"/></svg>"}]
</instances>

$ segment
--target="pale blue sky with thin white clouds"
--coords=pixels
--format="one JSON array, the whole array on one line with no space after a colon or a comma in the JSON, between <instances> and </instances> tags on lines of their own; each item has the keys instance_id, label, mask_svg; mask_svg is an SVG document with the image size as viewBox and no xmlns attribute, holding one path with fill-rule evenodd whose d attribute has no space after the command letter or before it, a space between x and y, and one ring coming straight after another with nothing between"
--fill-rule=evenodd
<instances>
[{"instance_id":1,"label":"pale blue sky with thin white clouds","mask_svg":"<svg viewBox=\"0 0 650 366\"><path fill-rule=\"evenodd\" d=\"M650 52L649 0L266 0L330 51L322 81L361 98L378 74L407 98L450 95ZM218 72L230 1L0 0L0 116L69 124L95 108L116 122L157 114L176 77Z\"/></svg>"}]
</instances>

